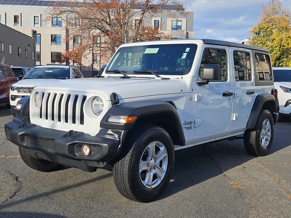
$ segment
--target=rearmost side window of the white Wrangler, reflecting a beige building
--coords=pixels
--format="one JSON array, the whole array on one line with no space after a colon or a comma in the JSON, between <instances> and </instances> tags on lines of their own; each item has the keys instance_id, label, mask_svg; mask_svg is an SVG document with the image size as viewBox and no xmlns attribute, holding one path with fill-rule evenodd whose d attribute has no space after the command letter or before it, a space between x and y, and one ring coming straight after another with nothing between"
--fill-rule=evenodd
<instances>
[{"instance_id":1,"label":"rearmost side window of the white Wrangler, reflecting a beige building","mask_svg":"<svg viewBox=\"0 0 291 218\"><path fill-rule=\"evenodd\" d=\"M255 53L255 69L258 81L272 80L270 66L268 55Z\"/></svg>"}]
</instances>

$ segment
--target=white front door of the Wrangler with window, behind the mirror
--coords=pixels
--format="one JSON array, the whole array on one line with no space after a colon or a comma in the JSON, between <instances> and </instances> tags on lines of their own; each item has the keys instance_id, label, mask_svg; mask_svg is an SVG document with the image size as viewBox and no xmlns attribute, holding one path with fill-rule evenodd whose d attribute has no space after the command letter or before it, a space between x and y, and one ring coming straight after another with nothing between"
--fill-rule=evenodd
<instances>
[{"instance_id":1,"label":"white front door of the Wrangler with window, behind the mirror","mask_svg":"<svg viewBox=\"0 0 291 218\"><path fill-rule=\"evenodd\" d=\"M208 45L207 45L208 46ZM207 85L195 83L194 134L203 135L224 131L228 128L233 108L232 77L229 47L206 47L198 70L197 80L201 80L204 64L219 64L220 79ZM224 94L223 94L224 93Z\"/></svg>"}]
</instances>

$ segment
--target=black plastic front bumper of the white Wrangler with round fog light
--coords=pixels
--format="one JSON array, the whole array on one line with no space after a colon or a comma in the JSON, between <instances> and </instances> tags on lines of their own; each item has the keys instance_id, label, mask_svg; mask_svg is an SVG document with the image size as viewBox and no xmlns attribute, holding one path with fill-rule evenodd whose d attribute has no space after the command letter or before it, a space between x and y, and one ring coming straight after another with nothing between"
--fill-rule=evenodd
<instances>
[{"instance_id":1,"label":"black plastic front bumper of the white Wrangler with round fog light","mask_svg":"<svg viewBox=\"0 0 291 218\"><path fill-rule=\"evenodd\" d=\"M101 129L96 136L65 132L36 126L29 122L29 116L20 115L5 124L7 139L25 148L29 155L88 172L106 168L108 162L118 155L125 132ZM83 144L91 146L90 156L82 153Z\"/></svg>"}]
</instances>

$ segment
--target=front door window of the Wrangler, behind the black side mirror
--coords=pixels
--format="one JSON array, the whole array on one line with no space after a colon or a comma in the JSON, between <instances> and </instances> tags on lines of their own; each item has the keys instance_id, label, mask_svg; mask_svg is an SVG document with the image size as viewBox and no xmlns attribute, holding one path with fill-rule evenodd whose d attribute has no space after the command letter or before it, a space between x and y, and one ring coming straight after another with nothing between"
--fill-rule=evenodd
<instances>
[{"instance_id":1,"label":"front door window of the Wrangler, behind the black side mirror","mask_svg":"<svg viewBox=\"0 0 291 218\"><path fill-rule=\"evenodd\" d=\"M201 65L200 65L200 78L203 77L204 64L219 64L220 65L220 81L227 81L227 66L226 66L226 51L221 49L205 49L203 52Z\"/></svg>"}]
</instances>

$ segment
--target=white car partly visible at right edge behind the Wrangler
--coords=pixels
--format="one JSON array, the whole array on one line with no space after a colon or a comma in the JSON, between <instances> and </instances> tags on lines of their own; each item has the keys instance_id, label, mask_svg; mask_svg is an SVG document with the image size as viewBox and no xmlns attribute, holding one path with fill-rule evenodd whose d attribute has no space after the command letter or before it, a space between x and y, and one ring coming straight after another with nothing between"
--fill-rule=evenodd
<instances>
[{"instance_id":1,"label":"white car partly visible at right edge behind the Wrangler","mask_svg":"<svg viewBox=\"0 0 291 218\"><path fill-rule=\"evenodd\" d=\"M273 67L274 86L278 90L280 116L291 115L291 67Z\"/></svg>"}]
</instances>

